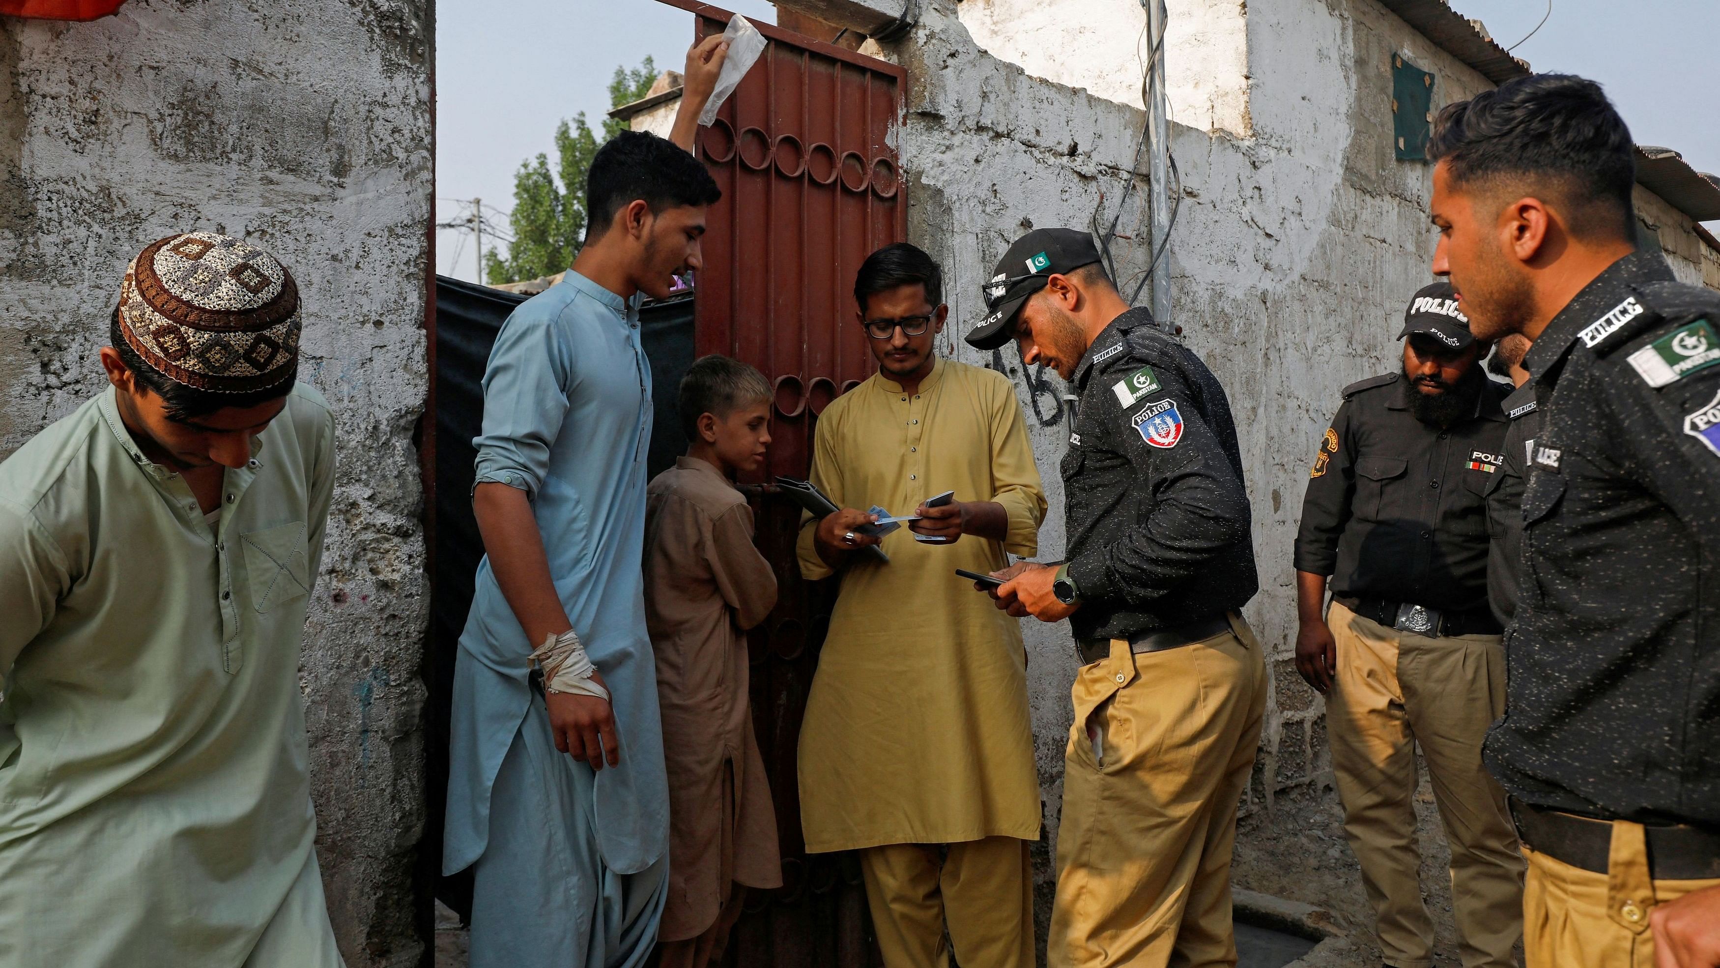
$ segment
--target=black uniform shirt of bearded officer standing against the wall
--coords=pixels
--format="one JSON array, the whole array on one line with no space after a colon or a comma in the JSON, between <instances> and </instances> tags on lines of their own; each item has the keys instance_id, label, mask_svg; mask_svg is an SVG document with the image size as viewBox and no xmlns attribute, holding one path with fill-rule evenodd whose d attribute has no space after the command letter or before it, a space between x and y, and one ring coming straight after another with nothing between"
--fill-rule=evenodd
<instances>
[{"instance_id":1,"label":"black uniform shirt of bearded officer standing against the wall","mask_svg":"<svg viewBox=\"0 0 1720 968\"><path fill-rule=\"evenodd\" d=\"M1302 499L1295 569L1343 598L1488 607L1486 488L1505 444L1505 392L1484 380L1474 411L1441 430L1416 420L1398 373L1343 389Z\"/></svg>"}]
</instances>

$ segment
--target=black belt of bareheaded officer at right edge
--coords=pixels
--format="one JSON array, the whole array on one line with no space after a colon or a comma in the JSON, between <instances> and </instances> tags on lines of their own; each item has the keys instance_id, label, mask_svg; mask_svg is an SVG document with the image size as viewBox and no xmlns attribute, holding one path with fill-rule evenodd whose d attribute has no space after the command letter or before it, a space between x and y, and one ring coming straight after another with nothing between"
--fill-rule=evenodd
<instances>
[{"instance_id":1,"label":"black belt of bareheaded officer at right edge","mask_svg":"<svg viewBox=\"0 0 1720 968\"><path fill-rule=\"evenodd\" d=\"M1606 873L1612 822L1560 813L1510 800L1510 817L1526 848L1557 861ZM1648 839L1648 875L1655 880L1708 880L1720 877L1720 830L1677 825L1643 825Z\"/></svg>"}]
</instances>

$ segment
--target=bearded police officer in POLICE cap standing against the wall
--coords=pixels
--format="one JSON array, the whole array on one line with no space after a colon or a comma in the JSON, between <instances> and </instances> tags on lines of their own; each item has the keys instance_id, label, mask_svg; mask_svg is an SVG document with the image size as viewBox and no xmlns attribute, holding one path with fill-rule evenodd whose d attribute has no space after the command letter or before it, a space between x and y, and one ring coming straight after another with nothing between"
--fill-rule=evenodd
<instances>
[{"instance_id":1,"label":"bearded police officer in POLICE cap standing against the wall","mask_svg":"<svg viewBox=\"0 0 1720 968\"><path fill-rule=\"evenodd\" d=\"M1402 370L1345 387L1316 449L1295 543L1295 662L1326 693L1343 829L1385 963L1433 959L1417 877L1419 743L1452 846L1464 968L1510 968L1522 856L1505 791L1481 763L1505 708L1484 497L1500 475L1505 390L1450 284L1416 292L1398 335Z\"/></svg>"}]
</instances>

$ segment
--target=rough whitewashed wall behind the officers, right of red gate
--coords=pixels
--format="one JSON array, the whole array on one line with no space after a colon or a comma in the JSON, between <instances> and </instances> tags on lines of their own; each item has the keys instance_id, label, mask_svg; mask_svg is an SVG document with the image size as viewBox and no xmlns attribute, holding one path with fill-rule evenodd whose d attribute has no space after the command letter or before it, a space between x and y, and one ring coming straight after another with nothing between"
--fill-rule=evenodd
<instances>
[{"instance_id":1,"label":"rough whitewashed wall behind the officers, right of red gate","mask_svg":"<svg viewBox=\"0 0 1720 968\"><path fill-rule=\"evenodd\" d=\"M901 127L908 232L946 267L946 297L958 320L953 332L984 313L979 284L1020 232L1085 227L1101 196L1103 220L1109 218L1142 126L1142 113L1120 103L1128 91L1139 98L1139 64L1121 70L1130 79L1113 86L1118 100L1096 96L1089 89L1103 84L1078 57L1078 38L1060 38L1034 5L1017 0L989 0L970 12L984 2L927 0L917 29L882 50L908 67ZM1125 15L1137 7L1133 0L1082 2L1096 15L1118 7L1115 33L1139 33L1139 15ZM1011 9L1035 40L1006 43L998 22L982 22ZM1393 337L1404 303L1431 280L1431 170L1393 158L1391 57L1405 53L1438 76L1436 105L1488 83L1374 0L1254 0L1245 9L1228 0L1173 0L1170 17L1171 103L1180 120L1194 115L1199 122L1173 126L1182 172L1170 249L1173 311L1183 339L1223 380L1238 418L1262 585L1247 617L1273 672L1261 757L1242 805L1235 880L1318 904L1340 925L1361 928L1324 963L1378 965L1378 947L1367 939L1373 918L1331 791L1321 700L1290 662L1290 555L1312 447L1336 411L1338 390L1398 366ZM1180 24L1180 17L1195 22ZM1082 36L1106 36L1104 21L1072 21ZM970 22L989 31L992 48L1013 45L1035 67L1023 70L982 50ZM1221 43L1237 33L1245 36L1240 62L1237 46ZM1044 45L1061 45L1061 52L1047 53ZM1206 60L1180 64L1178 50ZM1207 69L1209 62L1216 67ZM1060 64L1073 65L1073 76L1034 76L1054 74ZM1207 88L1180 91L1178 77L1190 76ZM1214 88L1223 77L1232 89ZM1133 237L1120 242L1125 294L1144 265L1144 187L1137 181L1118 225ZM1053 505L1041 557L1060 557L1063 383L1053 373L1023 373L1010 351L977 359L956 337L944 349L1017 378ZM1066 626L1025 622L1023 631L1046 825L1054 837L1075 660ZM1447 853L1426 786L1417 810L1440 956L1455 963ZM1037 870L1041 915L1051 892L1051 837Z\"/></svg>"}]
</instances>

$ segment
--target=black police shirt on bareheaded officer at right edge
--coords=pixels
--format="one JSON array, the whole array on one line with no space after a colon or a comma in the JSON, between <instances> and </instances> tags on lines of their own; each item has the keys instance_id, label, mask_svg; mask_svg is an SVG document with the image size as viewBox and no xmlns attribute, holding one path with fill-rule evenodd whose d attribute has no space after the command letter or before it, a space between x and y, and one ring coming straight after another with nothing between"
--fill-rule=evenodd
<instances>
[{"instance_id":1,"label":"black police shirt on bareheaded officer at right edge","mask_svg":"<svg viewBox=\"0 0 1720 968\"><path fill-rule=\"evenodd\" d=\"M1720 825L1720 296L1613 263L1534 340L1505 719L1486 762L1553 810Z\"/></svg>"}]
</instances>

